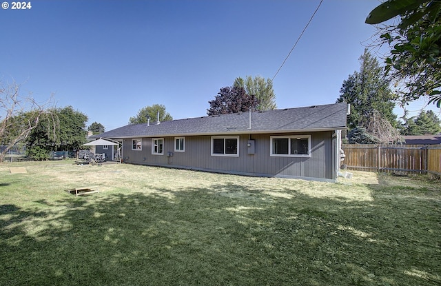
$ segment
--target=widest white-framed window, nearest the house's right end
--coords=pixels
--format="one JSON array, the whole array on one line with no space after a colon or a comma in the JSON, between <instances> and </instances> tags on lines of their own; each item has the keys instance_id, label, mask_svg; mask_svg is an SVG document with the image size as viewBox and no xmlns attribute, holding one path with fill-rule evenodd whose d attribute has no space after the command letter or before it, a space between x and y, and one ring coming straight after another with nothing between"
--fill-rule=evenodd
<instances>
[{"instance_id":1,"label":"widest white-framed window, nearest the house's right end","mask_svg":"<svg viewBox=\"0 0 441 286\"><path fill-rule=\"evenodd\" d=\"M271 136L271 156L311 156L311 135Z\"/></svg>"}]
</instances>

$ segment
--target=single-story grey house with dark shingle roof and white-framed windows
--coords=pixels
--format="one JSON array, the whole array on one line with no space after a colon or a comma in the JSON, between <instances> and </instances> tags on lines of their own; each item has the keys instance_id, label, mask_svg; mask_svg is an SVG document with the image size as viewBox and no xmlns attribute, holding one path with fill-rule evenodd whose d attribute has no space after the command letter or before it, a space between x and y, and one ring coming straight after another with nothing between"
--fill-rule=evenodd
<instances>
[{"instance_id":1,"label":"single-story grey house with dark shingle roof and white-framed windows","mask_svg":"<svg viewBox=\"0 0 441 286\"><path fill-rule=\"evenodd\" d=\"M335 182L347 103L126 125L94 139L122 143L123 163ZM116 146L96 152L116 159Z\"/></svg>"}]
</instances>

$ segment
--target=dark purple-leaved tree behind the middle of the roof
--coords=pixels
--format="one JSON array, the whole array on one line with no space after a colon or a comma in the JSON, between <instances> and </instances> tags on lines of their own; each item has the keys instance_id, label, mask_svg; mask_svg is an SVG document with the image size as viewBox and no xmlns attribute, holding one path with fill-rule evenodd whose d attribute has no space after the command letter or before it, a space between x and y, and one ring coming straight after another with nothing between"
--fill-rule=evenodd
<instances>
[{"instance_id":1,"label":"dark purple-leaved tree behind the middle of the roof","mask_svg":"<svg viewBox=\"0 0 441 286\"><path fill-rule=\"evenodd\" d=\"M218 95L208 103L208 115L255 111L258 106L256 96L247 94L244 88L230 86L220 88Z\"/></svg>"}]
</instances>

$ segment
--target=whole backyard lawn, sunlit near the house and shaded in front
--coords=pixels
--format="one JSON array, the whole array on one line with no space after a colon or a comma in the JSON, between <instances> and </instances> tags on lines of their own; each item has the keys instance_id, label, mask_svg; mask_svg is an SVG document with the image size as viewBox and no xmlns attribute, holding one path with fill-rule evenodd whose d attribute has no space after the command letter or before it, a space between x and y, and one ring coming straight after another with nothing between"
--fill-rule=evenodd
<instances>
[{"instance_id":1,"label":"whole backyard lawn, sunlit near the house and shaded in front","mask_svg":"<svg viewBox=\"0 0 441 286\"><path fill-rule=\"evenodd\" d=\"M87 185L100 192L66 192ZM440 285L440 190L364 172L3 163L0 285Z\"/></svg>"}]
</instances>

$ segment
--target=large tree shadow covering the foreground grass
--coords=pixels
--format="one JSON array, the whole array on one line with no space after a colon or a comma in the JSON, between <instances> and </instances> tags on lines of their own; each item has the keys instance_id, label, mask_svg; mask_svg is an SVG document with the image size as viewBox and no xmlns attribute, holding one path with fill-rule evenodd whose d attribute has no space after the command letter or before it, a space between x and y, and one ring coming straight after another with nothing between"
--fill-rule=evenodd
<instances>
[{"instance_id":1,"label":"large tree shadow covering the foreground grass","mask_svg":"<svg viewBox=\"0 0 441 286\"><path fill-rule=\"evenodd\" d=\"M153 191L1 205L0 285L441 283L439 203Z\"/></svg>"}]
</instances>

